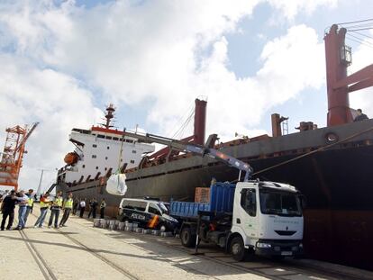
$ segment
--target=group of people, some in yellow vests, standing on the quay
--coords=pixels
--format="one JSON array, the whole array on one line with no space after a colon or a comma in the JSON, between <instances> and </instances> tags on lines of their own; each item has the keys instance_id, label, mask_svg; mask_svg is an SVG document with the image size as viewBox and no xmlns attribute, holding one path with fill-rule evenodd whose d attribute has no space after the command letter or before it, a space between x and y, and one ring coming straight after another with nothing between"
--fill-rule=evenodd
<instances>
[{"instance_id":1,"label":"group of people, some in yellow vests, standing on the quay","mask_svg":"<svg viewBox=\"0 0 373 280\"><path fill-rule=\"evenodd\" d=\"M26 226L27 218L32 212L33 203L36 200L36 195L32 195L33 190L30 189L28 193L24 191L20 191L16 193L14 190L12 191L5 191L5 194L0 198L1 204L1 212L3 213L3 219L1 221L1 230L5 230L5 223L8 220L6 225L6 230L13 230L13 222L14 222L14 209L15 206L18 205L18 224L14 228L14 230L23 230ZM98 203L96 199L92 199L89 202L90 211L88 213L88 218L92 215L92 217L96 218L96 211ZM41 212L34 224L34 228L42 228L44 220L47 216L47 212L50 209L50 220L48 222L48 227L51 228L52 225L54 228L59 228L66 226L66 222L68 221L68 217L70 213L76 215L77 210L80 210L80 218L83 218L83 214L86 210L86 199L75 199L73 200L73 194L69 193L68 197L63 199L62 192L58 192L54 199L50 198L50 194L47 192L41 195L40 198L40 207ZM104 219L105 214L105 199L103 199L100 203L100 217ZM59 214L63 212L62 218L59 221Z\"/></svg>"}]
</instances>

